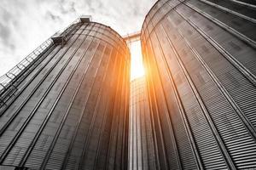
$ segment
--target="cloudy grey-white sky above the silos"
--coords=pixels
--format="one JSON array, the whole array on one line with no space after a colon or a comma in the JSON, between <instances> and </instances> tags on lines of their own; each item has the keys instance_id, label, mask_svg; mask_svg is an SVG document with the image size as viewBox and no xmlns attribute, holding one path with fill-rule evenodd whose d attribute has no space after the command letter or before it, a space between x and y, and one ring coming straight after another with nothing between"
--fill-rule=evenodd
<instances>
[{"instance_id":1,"label":"cloudy grey-white sky above the silos","mask_svg":"<svg viewBox=\"0 0 256 170\"><path fill-rule=\"evenodd\" d=\"M0 76L80 15L121 36L140 31L156 0L1 0Z\"/></svg>"}]
</instances>

